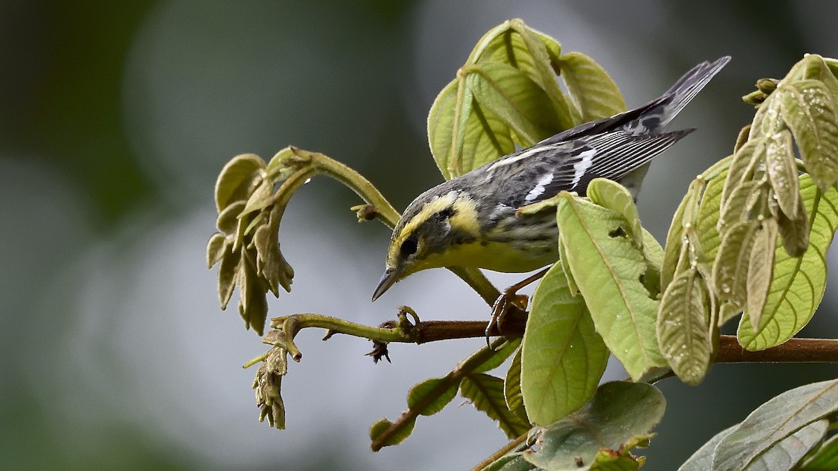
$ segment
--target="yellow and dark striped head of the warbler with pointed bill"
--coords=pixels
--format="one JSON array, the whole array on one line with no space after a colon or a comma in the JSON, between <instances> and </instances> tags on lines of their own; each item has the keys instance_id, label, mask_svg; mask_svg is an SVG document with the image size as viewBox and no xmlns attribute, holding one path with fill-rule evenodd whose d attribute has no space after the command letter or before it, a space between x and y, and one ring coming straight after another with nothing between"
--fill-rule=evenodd
<instances>
[{"instance_id":1,"label":"yellow and dark striped head of the warbler with pointed bill","mask_svg":"<svg viewBox=\"0 0 838 471\"><path fill-rule=\"evenodd\" d=\"M396 224L373 301L411 273L461 264L459 249L478 240L473 200L461 191L445 191L443 185L414 199Z\"/></svg>"}]
</instances>

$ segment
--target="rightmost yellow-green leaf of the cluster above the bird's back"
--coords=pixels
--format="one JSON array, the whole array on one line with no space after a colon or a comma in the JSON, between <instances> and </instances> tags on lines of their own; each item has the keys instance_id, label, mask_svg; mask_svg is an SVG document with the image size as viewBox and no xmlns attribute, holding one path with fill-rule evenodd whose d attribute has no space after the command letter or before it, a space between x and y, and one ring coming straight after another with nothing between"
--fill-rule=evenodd
<instances>
[{"instance_id":1,"label":"rightmost yellow-green leaf of the cluster above the bird's back","mask_svg":"<svg viewBox=\"0 0 838 471\"><path fill-rule=\"evenodd\" d=\"M572 52L559 58L561 78L582 111L582 121L614 116L626 111L623 96L608 73L585 54Z\"/></svg>"}]
</instances>

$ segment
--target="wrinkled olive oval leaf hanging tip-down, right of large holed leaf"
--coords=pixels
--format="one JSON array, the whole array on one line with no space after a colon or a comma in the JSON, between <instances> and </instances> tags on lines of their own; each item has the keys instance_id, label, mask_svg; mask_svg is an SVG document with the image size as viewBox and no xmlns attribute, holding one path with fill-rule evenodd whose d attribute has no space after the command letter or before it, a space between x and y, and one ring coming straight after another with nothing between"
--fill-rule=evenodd
<instances>
[{"instance_id":1,"label":"wrinkled olive oval leaf hanging tip-down, right of large holed leaf","mask_svg":"<svg viewBox=\"0 0 838 471\"><path fill-rule=\"evenodd\" d=\"M660 353L688 385L701 383L713 345L707 325L706 283L694 269L680 272L660 300L657 334Z\"/></svg>"}]
</instances>

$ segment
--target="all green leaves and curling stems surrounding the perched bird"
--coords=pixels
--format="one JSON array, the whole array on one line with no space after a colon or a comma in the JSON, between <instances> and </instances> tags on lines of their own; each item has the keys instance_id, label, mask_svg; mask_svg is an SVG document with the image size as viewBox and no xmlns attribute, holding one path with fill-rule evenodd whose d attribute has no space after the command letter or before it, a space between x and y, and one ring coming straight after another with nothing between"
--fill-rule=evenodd
<instances>
[{"instance_id":1,"label":"all green leaves and curling stems surrounding the perched bird","mask_svg":"<svg viewBox=\"0 0 838 471\"><path fill-rule=\"evenodd\" d=\"M731 156L691 183L664 247L640 224L628 191L609 180L593 180L586 197L561 193L520 208L524 215L556 212L560 263L546 272L529 311L510 303L505 337L411 388L408 409L396 421L373 424L372 448L401 443L419 416L437 413L459 392L507 437L518 437L483 463L487 469L638 468L644 458L631 451L649 443L665 409L648 383L676 375L698 385L712 364L732 361L720 357L718 329L739 313L743 349L777 350L820 304L825 253L838 228L836 73L838 61L809 54L783 80L758 82L758 91L744 97L757 106L753 122ZM554 39L511 20L478 41L437 96L428 138L450 179L516 146L624 110L617 86L590 58L563 54ZM398 220L360 174L319 153L286 148L269 163L242 155L220 173L220 232L209 240L208 264L220 265L221 307L239 287L239 312L259 334L267 292L290 290L293 277L279 248L282 214L296 189L318 174L365 200L353 208L359 220L390 226ZM499 298L478 271L451 269L488 303ZM287 356L302 358L293 340L299 329L373 339L378 360L388 342L474 336L486 323L422 322L405 307L378 328L316 314L274 318L271 327L263 341L272 349L248 365L260 363L254 382L260 418L283 428L280 386ZM818 346L830 347L832 356L817 359L838 360L835 341L824 342ZM795 345L802 351L805 344ZM608 355L634 382L597 387ZM510 358L505 375L487 373ZM838 456L835 438L825 442L838 422L836 385L825 381L777 396L716 435L682 469L829 468Z\"/></svg>"}]
</instances>

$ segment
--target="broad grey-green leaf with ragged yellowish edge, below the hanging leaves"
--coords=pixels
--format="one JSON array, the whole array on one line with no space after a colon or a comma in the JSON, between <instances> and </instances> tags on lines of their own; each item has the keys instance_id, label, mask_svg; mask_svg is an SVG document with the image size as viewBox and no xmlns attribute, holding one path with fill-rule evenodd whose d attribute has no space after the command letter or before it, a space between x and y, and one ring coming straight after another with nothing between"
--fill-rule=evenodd
<instances>
[{"instance_id":1,"label":"broad grey-green leaf with ragged yellowish edge, below the hanging leaves","mask_svg":"<svg viewBox=\"0 0 838 471\"><path fill-rule=\"evenodd\" d=\"M666 402L646 383L614 381L599 386L580 411L545 427L541 449L524 458L543 469L585 469L603 448L618 450L649 434L664 415Z\"/></svg>"}]
</instances>

